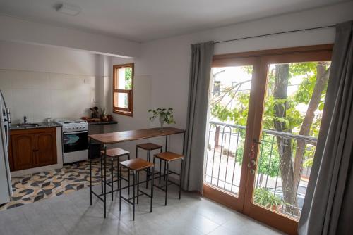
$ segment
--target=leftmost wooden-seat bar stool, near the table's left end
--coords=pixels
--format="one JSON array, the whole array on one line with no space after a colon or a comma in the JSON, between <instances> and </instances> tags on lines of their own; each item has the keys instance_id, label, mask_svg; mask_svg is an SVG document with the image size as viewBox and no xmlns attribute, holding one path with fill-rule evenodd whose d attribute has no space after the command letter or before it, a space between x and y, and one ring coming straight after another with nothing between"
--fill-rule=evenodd
<instances>
[{"instance_id":1,"label":"leftmost wooden-seat bar stool, near the table's left end","mask_svg":"<svg viewBox=\"0 0 353 235\"><path fill-rule=\"evenodd\" d=\"M111 189L111 194L112 194L112 201L113 201L113 192L114 192L114 182L118 182L118 189L121 188L121 184L119 186L119 171L116 170L117 175L118 175L118 179L114 180L114 160L117 160L117 163L119 164L119 158L124 157L124 156L128 156L128 159L130 159L130 152L126 151L122 148L109 148L107 149L106 152L106 157L108 160L110 160L110 171L111 171L111 181L106 182L103 179L103 158L104 158L104 150L100 151L101 153L101 158L100 158L100 174L101 174L101 185L102 185L102 193L103 193L103 183L107 184ZM106 170L107 166L104 166L104 171ZM130 177L128 177L128 183L130 183ZM128 189L128 193L130 194L130 189Z\"/></svg>"}]
</instances>

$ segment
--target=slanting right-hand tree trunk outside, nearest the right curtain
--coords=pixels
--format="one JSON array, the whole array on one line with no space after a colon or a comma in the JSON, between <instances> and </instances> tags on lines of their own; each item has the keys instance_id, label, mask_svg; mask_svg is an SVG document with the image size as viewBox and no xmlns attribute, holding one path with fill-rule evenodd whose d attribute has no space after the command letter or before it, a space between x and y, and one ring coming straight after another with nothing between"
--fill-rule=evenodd
<instances>
[{"instance_id":1,"label":"slanting right-hand tree trunk outside, nearest the right curtain","mask_svg":"<svg viewBox=\"0 0 353 235\"><path fill-rule=\"evenodd\" d=\"M315 118L315 111L318 109L321 95L323 94L325 85L328 82L328 75L330 74L330 68L328 68L328 70L325 69L326 65L327 63L325 62L319 62L316 65L316 84L313 89L313 94L309 102L308 110L306 110L304 121L299 130L299 135L309 136L310 134L311 125L313 124L313 119ZM296 194L303 170L305 148L306 143L303 140L298 140L297 150L294 158L294 192Z\"/></svg>"}]
</instances>

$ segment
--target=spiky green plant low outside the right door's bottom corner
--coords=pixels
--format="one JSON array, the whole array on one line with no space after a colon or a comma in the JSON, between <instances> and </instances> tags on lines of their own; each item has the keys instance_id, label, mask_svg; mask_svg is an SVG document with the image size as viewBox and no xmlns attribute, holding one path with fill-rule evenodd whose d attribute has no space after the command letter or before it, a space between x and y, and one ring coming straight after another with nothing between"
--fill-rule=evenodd
<instances>
[{"instance_id":1,"label":"spiky green plant low outside the right door's bottom corner","mask_svg":"<svg viewBox=\"0 0 353 235\"><path fill-rule=\"evenodd\" d=\"M253 201L276 211L279 210L282 205L287 204L282 198L274 195L272 191L266 188L255 189Z\"/></svg>"}]
</instances>

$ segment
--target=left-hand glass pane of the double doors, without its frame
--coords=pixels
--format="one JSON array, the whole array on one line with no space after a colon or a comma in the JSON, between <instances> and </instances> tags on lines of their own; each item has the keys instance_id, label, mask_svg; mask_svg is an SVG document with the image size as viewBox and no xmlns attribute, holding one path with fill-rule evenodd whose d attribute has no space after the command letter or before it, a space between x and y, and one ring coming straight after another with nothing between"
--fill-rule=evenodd
<instances>
[{"instance_id":1,"label":"left-hand glass pane of the double doors, without its frame","mask_svg":"<svg viewBox=\"0 0 353 235\"><path fill-rule=\"evenodd\" d=\"M213 68L205 183L239 193L253 66Z\"/></svg>"}]
</instances>

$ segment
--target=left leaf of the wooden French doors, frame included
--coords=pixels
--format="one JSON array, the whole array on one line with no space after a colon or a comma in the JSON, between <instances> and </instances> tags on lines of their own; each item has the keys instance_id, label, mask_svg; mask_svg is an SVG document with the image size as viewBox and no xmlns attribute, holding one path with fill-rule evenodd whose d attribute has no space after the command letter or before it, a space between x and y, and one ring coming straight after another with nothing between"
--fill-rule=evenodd
<instances>
[{"instance_id":1,"label":"left leaf of the wooden French doors, frame included","mask_svg":"<svg viewBox=\"0 0 353 235\"><path fill-rule=\"evenodd\" d=\"M219 65L215 61L211 74L203 194L234 210L244 206L243 155L255 69L256 59L239 58ZM239 106L241 110L232 113Z\"/></svg>"}]
</instances>

